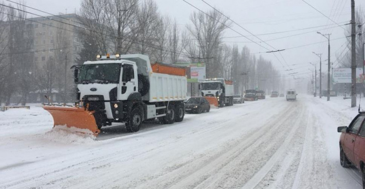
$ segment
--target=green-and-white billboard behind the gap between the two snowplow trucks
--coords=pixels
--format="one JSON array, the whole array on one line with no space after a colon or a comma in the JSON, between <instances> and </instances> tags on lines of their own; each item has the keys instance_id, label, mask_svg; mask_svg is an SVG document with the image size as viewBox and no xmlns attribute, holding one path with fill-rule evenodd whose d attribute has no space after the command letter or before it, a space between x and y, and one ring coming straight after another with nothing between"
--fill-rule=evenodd
<instances>
[{"instance_id":1,"label":"green-and-white billboard behind the gap between the two snowplow trucks","mask_svg":"<svg viewBox=\"0 0 365 189\"><path fill-rule=\"evenodd\" d=\"M188 83L200 83L205 80L205 63L175 63L174 65L185 66Z\"/></svg>"}]
</instances>

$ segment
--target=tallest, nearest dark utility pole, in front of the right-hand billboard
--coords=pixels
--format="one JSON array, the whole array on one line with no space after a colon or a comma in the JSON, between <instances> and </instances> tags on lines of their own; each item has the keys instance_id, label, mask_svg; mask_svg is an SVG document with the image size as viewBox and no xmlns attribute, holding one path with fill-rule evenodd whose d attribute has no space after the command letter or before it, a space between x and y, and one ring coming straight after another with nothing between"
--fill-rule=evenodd
<instances>
[{"instance_id":1,"label":"tallest, nearest dark utility pole, in front of the right-hand billboard","mask_svg":"<svg viewBox=\"0 0 365 189\"><path fill-rule=\"evenodd\" d=\"M351 0L351 108L356 107L355 0Z\"/></svg>"}]
</instances>

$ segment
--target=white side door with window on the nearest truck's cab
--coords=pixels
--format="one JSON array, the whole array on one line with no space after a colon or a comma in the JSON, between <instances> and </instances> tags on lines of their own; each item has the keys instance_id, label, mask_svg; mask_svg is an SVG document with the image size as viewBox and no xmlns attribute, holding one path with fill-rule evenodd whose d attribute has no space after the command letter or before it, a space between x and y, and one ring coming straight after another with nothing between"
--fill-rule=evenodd
<instances>
[{"instance_id":1,"label":"white side door with window on the nearest truck's cab","mask_svg":"<svg viewBox=\"0 0 365 189\"><path fill-rule=\"evenodd\" d=\"M137 86L137 70L133 64L124 63L122 68L122 83L120 87L120 99L127 100L128 96L134 92L138 92Z\"/></svg>"}]
</instances>

